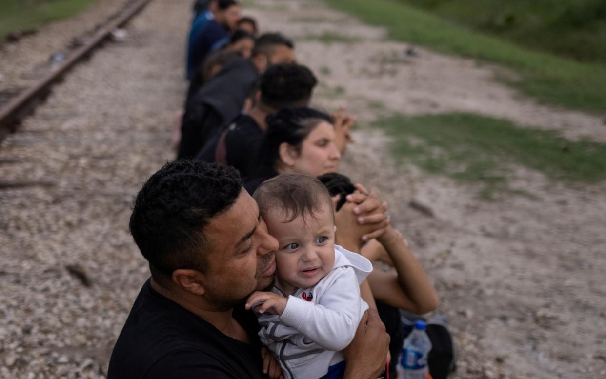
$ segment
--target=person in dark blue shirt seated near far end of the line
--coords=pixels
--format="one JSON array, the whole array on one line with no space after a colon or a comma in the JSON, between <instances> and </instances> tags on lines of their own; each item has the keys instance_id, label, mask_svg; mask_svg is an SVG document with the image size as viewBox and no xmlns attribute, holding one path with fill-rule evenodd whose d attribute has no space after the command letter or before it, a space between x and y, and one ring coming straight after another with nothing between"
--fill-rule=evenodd
<instances>
[{"instance_id":1,"label":"person in dark blue shirt seated near far end of the line","mask_svg":"<svg viewBox=\"0 0 606 379\"><path fill-rule=\"evenodd\" d=\"M240 5L235 0L218 0L214 12L203 12L191 25L187 44L187 79L191 80L213 46L236 30Z\"/></svg>"}]
</instances>

